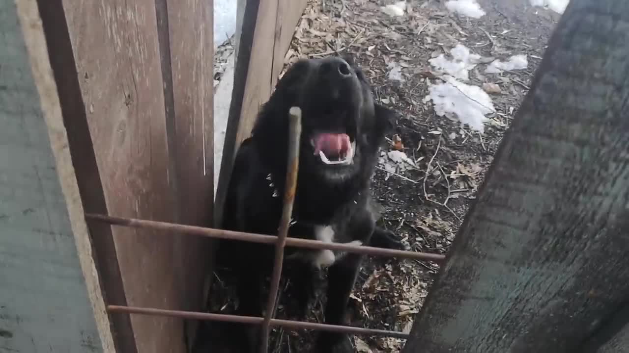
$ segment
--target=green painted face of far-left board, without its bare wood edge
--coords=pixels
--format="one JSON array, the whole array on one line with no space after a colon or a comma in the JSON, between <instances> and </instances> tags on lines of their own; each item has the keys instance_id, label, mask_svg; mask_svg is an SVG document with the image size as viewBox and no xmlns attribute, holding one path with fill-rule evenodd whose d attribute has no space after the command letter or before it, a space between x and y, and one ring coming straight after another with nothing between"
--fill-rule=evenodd
<instances>
[{"instance_id":1,"label":"green painted face of far-left board, without its bare wood edge","mask_svg":"<svg viewBox=\"0 0 629 353\"><path fill-rule=\"evenodd\" d=\"M103 352L12 0L0 48L0 352Z\"/></svg>"}]
</instances>

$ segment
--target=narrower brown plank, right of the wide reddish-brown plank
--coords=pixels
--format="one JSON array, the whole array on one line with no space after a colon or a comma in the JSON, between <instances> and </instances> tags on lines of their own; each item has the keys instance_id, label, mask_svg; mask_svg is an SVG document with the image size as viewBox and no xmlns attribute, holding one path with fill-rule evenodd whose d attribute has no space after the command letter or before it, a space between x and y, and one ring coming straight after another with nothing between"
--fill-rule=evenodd
<instances>
[{"instance_id":1,"label":"narrower brown plank, right of the wide reddish-brown plank","mask_svg":"<svg viewBox=\"0 0 629 353\"><path fill-rule=\"evenodd\" d=\"M174 119L167 126L175 157L179 223L211 226L214 202L213 1L159 2L167 4ZM166 79L167 75L164 77ZM201 311L206 293L204 281L211 273L214 242L200 237L182 240L185 242L179 244L179 254L182 255L181 266L186 269L179 283L185 295L182 305L184 310ZM190 322L187 329L190 345L196 322Z\"/></svg>"}]
</instances>

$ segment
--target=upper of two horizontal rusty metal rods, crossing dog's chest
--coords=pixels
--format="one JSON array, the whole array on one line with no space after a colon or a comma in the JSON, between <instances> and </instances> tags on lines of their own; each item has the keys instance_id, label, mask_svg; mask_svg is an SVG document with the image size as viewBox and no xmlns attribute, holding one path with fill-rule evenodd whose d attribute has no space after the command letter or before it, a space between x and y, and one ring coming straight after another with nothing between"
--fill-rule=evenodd
<instances>
[{"instance_id":1,"label":"upper of two horizontal rusty metal rods, crossing dog's chest","mask_svg":"<svg viewBox=\"0 0 629 353\"><path fill-rule=\"evenodd\" d=\"M265 234L244 233L225 231L223 229L197 227L196 225L183 225L168 222L157 222L155 220L144 220L135 218L115 217L111 215L86 214L86 220L95 220L112 225L121 225L124 227L147 228L159 231L193 234L196 236L206 236L221 239L231 239L238 241L259 242L262 244L275 244L277 236L268 236ZM341 244L338 242L322 242L310 239L298 239L289 237L286 239L286 246L305 247L308 249L330 249L338 251L346 251L347 253L357 253L372 256L388 256L391 258L414 259L420 261L440 262L445 259L441 254L417 253L415 251L404 251L395 249L382 249L380 247L359 246L350 244Z\"/></svg>"}]
</instances>

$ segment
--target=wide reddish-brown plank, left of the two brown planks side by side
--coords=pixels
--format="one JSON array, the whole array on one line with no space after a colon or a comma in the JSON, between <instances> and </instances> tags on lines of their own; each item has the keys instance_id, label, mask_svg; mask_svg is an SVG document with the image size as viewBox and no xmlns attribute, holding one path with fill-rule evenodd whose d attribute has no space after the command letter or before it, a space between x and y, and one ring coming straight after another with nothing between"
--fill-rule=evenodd
<instances>
[{"instance_id":1,"label":"wide reddish-brown plank, left of the two brown planks side by side","mask_svg":"<svg viewBox=\"0 0 629 353\"><path fill-rule=\"evenodd\" d=\"M109 213L175 220L153 0L64 0ZM179 239L112 229L128 305L182 308ZM182 352L181 320L131 317L138 352Z\"/></svg>"}]
</instances>

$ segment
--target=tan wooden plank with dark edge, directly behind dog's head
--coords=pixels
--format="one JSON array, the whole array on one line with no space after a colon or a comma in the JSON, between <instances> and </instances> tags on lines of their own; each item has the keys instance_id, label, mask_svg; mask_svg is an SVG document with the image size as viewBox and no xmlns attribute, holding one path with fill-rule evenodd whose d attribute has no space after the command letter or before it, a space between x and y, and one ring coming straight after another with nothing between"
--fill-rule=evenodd
<instances>
[{"instance_id":1,"label":"tan wooden plank with dark edge, directly behind dog's head","mask_svg":"<svg viewBox=\"0 0 629 353\"><path fill-rule=\"evenodd\" d=\"M245 9L238 10L243 19L237 30L236 72L214 203L217 220L221 219L233 158L274 89L306 0L253 0L243 5Z\"/></svg>"}]
</instances>

